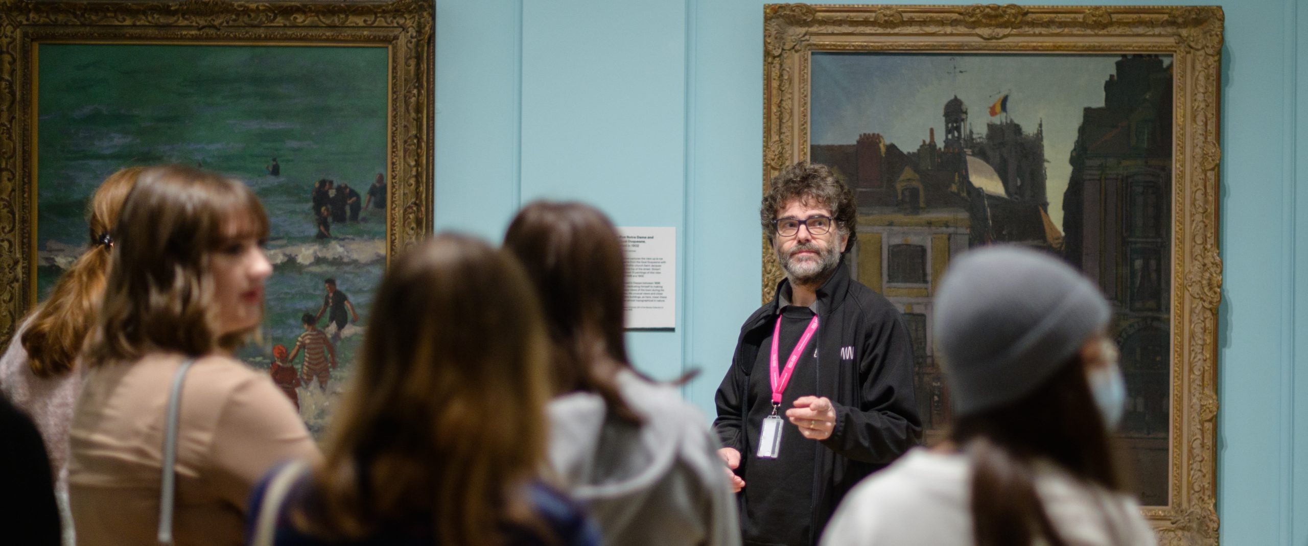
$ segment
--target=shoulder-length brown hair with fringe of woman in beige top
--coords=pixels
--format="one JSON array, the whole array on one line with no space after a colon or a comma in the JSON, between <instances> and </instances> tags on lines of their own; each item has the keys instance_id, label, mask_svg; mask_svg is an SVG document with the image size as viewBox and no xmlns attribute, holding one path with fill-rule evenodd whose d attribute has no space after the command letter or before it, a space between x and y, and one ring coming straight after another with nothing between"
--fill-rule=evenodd
<instances>
[{"instance_id":1,"label":"shoulder-length brown hair with fringe of woman in beige top","mask_svg":"<svg viewBox=\"0 0 1308 546\"><path fill-rule=\"evenodd\" d=\"M128 193L114 236L90 366L153 351L199 357L245 342L250 330L217 328L209 259L232 240L268 236L268 217L249 187L187 166L150 167Z\"/></svg>"}]
</instances>

